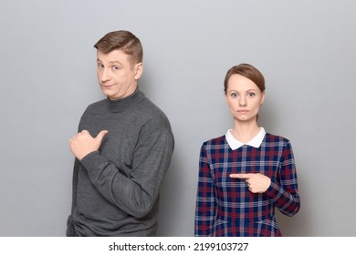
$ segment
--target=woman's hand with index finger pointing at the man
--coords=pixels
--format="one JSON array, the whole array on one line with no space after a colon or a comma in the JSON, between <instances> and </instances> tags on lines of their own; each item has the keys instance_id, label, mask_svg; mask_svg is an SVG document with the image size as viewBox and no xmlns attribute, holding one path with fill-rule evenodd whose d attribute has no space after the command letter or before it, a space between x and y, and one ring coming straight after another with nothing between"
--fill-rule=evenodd
<instances>
[{"instance_id":1,"label":"woman's hand with index finger pointing at the man","mask_svg":"<svg viewBox=\"0 0 356 255\"><path fill-rule=\"evenodd\" d=\"M248 189L252 193L263 193L269 185L271 185L271 179L262 174L231 174L230 178L245 179Z\"/></svg>"}]
</instances>

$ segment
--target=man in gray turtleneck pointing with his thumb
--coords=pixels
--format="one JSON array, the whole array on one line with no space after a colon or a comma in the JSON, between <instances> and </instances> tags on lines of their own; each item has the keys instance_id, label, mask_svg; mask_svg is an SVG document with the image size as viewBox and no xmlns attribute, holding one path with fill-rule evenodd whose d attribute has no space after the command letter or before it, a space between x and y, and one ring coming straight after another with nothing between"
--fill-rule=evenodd
<instances>
[{"instance_id":1,"label":"man in gray turtleneck pointing with his thumb","mask_svg":"<svg viewBox=\"0 0 356 255\"><path fill-rule=\"evenodd\" d=\"M138 87L140 40L121 30L94 47L107 98L86 109L69 140L76 159L67 236L152 236L173 154L172 129Z\"/></svg>"}]
</instances>

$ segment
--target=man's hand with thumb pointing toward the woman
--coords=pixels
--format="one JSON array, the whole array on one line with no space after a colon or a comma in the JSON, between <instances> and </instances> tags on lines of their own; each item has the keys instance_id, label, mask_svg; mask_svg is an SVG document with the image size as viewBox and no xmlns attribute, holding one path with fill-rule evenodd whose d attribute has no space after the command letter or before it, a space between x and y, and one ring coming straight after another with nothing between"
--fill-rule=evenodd
<instances>
[{"instance_id":1,"label":"man's hand with thumb pointing toward the woman","mask_svg":"<svg viewBox=\"0 0 356 255\"><path fill-rule=\"evenodd\" d=\"M83 130L69 139L69 148L73 155L81 160L90 152L99 150L102 138L104 138L107 133L107 130L102 130L96 138L93 138L87 130Z\"/></svg>"}]
</instances>

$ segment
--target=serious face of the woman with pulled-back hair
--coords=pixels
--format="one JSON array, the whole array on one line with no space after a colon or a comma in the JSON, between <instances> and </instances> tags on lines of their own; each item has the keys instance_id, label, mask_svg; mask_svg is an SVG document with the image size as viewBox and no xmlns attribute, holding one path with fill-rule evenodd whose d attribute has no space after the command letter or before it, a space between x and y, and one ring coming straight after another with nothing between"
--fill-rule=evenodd
<instances>
[{"instance_id":1,"label":"serious face of the woman with pulled-back hair","mask_svg":"<svg viewBox=\"0 0 356 255\"><path fill-rule=\"evenodd\" d=\"M230 76L225 94L230 113L237 121L256 121L265 92L250 79L241 75Z\"/></svg>"}]
</instances>

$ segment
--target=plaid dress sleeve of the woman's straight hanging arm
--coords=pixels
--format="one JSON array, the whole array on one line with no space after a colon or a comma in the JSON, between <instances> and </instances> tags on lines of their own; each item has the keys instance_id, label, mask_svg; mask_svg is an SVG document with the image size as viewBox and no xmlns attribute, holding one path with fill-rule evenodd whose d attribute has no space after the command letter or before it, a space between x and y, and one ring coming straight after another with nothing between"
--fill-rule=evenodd
<instances>
[{"instance_id":1,"label":"plaid dress sleeve of the woman's straight hanging arm","mask_svg":"<svg viewBox=\"0 0 356 255\"><path fill-rule=\"evenodd\" d=\"M194 235L211 236L215 223L215 189L204 145L200 150L198 187L195 205Z\"/></svg>"}]
</instances>

